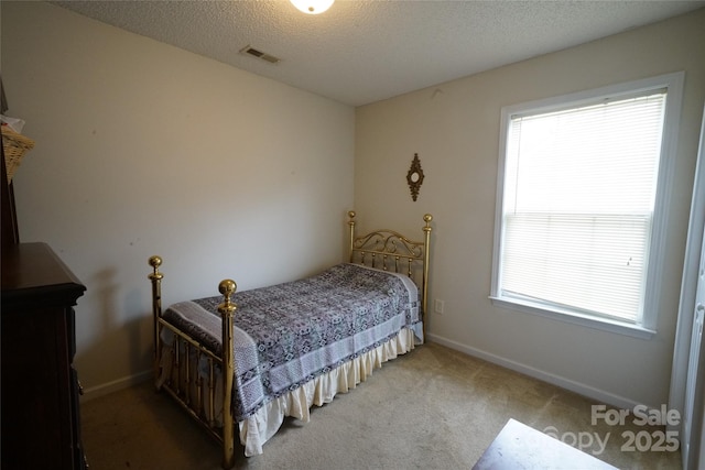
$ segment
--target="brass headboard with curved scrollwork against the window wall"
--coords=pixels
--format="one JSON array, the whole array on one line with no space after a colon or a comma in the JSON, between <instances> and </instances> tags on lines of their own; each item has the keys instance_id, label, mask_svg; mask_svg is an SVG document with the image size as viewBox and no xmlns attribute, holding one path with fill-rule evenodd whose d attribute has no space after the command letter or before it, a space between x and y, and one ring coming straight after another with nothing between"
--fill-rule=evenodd
<instances>
[{"instance_id":1,"label":"brass headboard with curved scrollwork against the window wall","mask_svg":"<svg viewBox=\"0 0 705 470\"><path fill-rule=\"evenodd\" d=\"M355 216L354 210L348 211L348 226L350 227L349 262L406 274L419 286L421 311L425 316L429 305L429 249L433 216L431 214L423 216L425 222L422 228L423 241L411 240L389 229L357 234L355 231Z\"/></svg>"}]
</instances>

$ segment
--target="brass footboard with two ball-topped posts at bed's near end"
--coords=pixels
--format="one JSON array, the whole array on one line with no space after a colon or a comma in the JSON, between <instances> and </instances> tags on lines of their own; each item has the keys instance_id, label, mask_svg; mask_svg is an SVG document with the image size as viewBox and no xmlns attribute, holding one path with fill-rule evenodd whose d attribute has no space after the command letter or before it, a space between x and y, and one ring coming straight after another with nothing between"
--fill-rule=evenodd
<instances>
[{"instance_id":1,"label":"brass footboard with two ball-topped posts at bed's near end","mask_svg":"<svg viewBox=\"0 0 705 470\"><path fill-rule=\"evenodd\" d=\"M231 413L235 376L232 328L237 309L231 296L237 291L237 284L232 280L224 280L218 285L218 291L223 294L223 303L218 306L218 313L223 319L224 347L221 348L221 357L217 357L163 318L161 283L164 275L159 271L162 259L151 256L149 264L153 269L148 277L152 282L155 386L158 390L165 390L213 437L221 442L223 468L231 469L235 466L235 420ZM173 335L173 341L170 346L164 345L162 340L164 328ZM170 354L169 358L163 357L165 351ZM200 376L198 372L202 359L205 359L208 364L205 378ZM162 380L164 373L162 368L169 368L167 375L170 378L174 375L175 379ZM218 368L221 371L220 374L217 374ZM220 380L216 375L219 375ZM220 387L217 386L218 382ZM207 393L204 393L205 390ZM216 419L216 409L223 409L221 423Z\"/></svg>"}]
</instances>

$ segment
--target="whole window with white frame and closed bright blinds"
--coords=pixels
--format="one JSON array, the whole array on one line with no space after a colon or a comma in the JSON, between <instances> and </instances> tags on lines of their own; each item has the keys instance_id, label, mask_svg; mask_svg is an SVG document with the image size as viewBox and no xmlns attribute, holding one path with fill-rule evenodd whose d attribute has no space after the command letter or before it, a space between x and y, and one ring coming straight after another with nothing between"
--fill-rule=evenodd
<instances>
[{"instance_id":1,"label":"whole window with white frame and closed bright blinds","mask_svg":"<svg viewBox=\"0 0 705 470\"><path fill-rule=\"evenodd\" d=\"M502 109L495 303L649 337L683 74Z\"/></svg>"}]
</instances>

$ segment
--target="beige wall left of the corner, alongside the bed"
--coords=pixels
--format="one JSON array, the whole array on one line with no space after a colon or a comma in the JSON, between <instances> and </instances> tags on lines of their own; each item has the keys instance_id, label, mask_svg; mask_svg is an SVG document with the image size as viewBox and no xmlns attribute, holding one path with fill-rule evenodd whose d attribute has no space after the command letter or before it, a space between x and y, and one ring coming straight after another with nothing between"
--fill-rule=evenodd
<instances>
[{"instance_id":1,"label":"beige wall left of the corner, alongside the bed","mask_svg":"<svg viewBox=\"0 0 705 470\"><path fill-rule=\"evenodd\" d=\"M164 303L341 260L351 107L47 3L1 8L9 114L36 141L14 178L20 237L87 286L77 365L94 395L151 368L150 255Z\"/></svg>"}]
</instances>

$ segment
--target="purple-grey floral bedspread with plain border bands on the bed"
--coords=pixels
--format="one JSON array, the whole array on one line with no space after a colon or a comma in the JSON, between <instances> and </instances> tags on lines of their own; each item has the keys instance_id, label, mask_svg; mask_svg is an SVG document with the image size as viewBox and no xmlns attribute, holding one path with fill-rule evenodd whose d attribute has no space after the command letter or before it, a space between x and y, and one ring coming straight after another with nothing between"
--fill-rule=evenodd
<instances>
[{"instance_id":1,"label":"purple-grey floral bedspread with plain border bands on the bed","mask_svg":"<svg viewBox=\"0 0 705 470\"><path fill-rule=\"evenodd\" d=\"M421 335L419 293L406 276L338 264L295 282L236 293L234 414L263 404L367 352L404 327ZM220 354L223 297L175 304L163 317ZM423 338L420 338L423 340Z\"/></svg>"}]
</instances>

